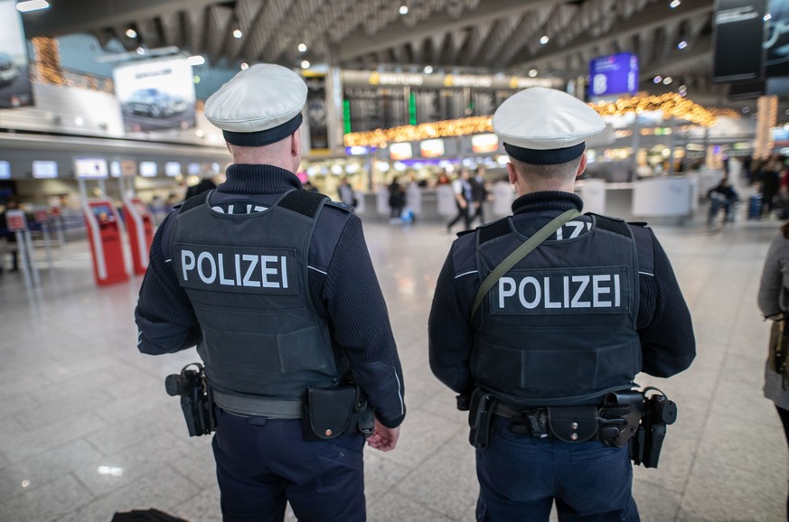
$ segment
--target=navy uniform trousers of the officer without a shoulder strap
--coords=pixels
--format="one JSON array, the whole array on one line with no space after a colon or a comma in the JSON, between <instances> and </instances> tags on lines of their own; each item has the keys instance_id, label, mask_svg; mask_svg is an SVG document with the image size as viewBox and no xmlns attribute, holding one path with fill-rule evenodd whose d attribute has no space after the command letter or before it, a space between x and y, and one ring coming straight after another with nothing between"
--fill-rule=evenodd
<instances>
[{"instance_id":1,"label":"navy uniform trousers of the officer without a shoulder strap","mask_svg":"<svg viewBox=\"0 0 789 522\"><path fill-rule=\"evenodd\" d=\"M365 520L361 434L306 442L301 420L218 409L213 438L224 522Z\"/></svg>"}]
</instances>

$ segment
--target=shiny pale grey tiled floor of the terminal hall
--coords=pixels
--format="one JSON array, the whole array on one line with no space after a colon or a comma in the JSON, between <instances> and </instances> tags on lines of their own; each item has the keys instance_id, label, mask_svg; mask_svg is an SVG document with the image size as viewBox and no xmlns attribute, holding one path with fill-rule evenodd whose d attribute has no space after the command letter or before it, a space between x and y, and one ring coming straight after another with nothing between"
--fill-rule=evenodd
<instances>
[{"instance_id":1,"label":"shiny pale grey tiled floor of the terminal hall","mask_svg":"<svg viewBox=\"0 0 789 522\"><path fill-rule=\"evenodd\" d=\"M756 308L778 223L655 228L693 314L699 356L680 376L639 376L680 406L659 470L635 469L646 521L785 520L787 449L762 396L768 326ZM394 452L365 452L369 519L472 520L474 451L465 415L427 365L427 314L452 238L442 224L368 223L390 309L409 415ZM197 360L135 347L141 282L99 288L86 243L68 244L42 285L0 276L0 521L108 522L159 508L220 520L210 438L189 438L164 376Z\"/></svg>"}]
</instances>

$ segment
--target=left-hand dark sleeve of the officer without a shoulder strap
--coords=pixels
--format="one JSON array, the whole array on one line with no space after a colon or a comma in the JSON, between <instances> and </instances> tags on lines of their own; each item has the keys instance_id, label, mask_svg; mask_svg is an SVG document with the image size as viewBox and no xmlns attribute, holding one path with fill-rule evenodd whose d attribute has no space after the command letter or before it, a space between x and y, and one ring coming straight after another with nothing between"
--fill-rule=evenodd
<instances>
[{"instance_id":1,"label":"left-hand dark sleeve of the officer without a shoulder strap","mask_svg":"<svg viewBox=\"0 0 789 522\"><path fill-rule=\"evenodd\" d=\"M170 218L164 219L151 243L150 265L140 287L135 309L137 348L150 355L161 355L193 347L200 340L200 325L183 288L173 271L171 261L162 251L164 230Z\"/></svg>"}]
</instances>

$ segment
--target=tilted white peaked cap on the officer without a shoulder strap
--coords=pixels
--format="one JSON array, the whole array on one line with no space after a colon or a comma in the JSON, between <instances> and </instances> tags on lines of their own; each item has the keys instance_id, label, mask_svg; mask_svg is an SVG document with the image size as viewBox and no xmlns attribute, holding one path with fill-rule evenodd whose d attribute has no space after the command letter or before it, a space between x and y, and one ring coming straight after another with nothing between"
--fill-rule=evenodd
<instances>
[{"instance_id":1,"label":"tilted white peaked cap on the officer without a shoulder strap","mask_svg":"<svg viewBox=\"0 0 789 522\"><path fill-rule=\"evenodd\" d=\"M229 144L262 146L296 132L306 102L304 79L279 65L242 70L205 102L205 118Z\"/></svg>"}]
</instances>

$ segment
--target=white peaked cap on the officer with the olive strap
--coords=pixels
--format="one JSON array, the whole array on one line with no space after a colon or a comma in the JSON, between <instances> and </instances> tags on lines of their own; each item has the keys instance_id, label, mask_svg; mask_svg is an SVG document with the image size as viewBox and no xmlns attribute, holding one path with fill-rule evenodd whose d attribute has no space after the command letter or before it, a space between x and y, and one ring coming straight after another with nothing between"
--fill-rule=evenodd
<instances>
[{"instance_id":1,"label":"white peaked cap on the officer with the olive strap","mask_svg":"<svg viewBox=\"0 0 789 522\"><path fill-rule=\"evenodd\" d=\"M538 165L578 158L587 137L605 128L595 109L566 92L544 87L521 90L493 114L493 132L507 154Z\"/></svg>"}]
</instances>

